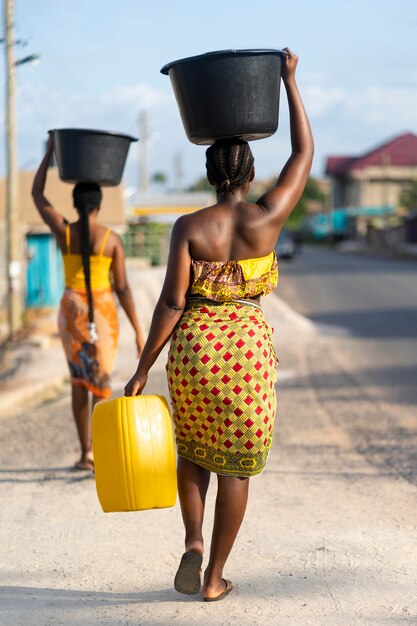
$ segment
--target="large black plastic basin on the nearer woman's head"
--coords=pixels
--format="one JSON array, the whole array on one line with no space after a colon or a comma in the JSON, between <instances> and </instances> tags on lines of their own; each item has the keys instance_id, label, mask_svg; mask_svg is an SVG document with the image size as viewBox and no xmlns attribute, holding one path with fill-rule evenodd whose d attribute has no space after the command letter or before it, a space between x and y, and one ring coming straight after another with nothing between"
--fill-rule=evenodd
<instances>
[{"instance_id":1,"label":"large black plastic basin on the nearer woman's head","mask_svg":"<svg viewBox=\"0 0 417 626\"><path fill-rule=\"evenodd\" d=\"M246 141L278 128L281 50L220 50L164 65L188 139Z\"/></svg>"}]
</instances>

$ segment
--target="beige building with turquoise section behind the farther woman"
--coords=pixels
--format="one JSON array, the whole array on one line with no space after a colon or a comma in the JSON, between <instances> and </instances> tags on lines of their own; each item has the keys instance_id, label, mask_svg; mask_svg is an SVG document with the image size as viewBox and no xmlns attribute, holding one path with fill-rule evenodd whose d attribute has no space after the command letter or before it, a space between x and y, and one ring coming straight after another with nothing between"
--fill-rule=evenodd
<instances>
[{"instance_id":1,"label":"beige building with turquoise section behind the farther woman","mask_svg":"<svg viewBox=\"0 0 417 626\"><path fill-rule=\"evenodd\" d=\"M35 172L19 172L19 206L22 233L22 301L27 306L54 306L62 292L62 262L55 239L39 216L31 189ZM63 183L51 167L45 195L69 222L77 219L72 202L73 185ZM104 187L99 221L116 231L126 227L123 187ZM6 318L6 181L0 179L0 321Z\"/></svg>"}]
</instances>

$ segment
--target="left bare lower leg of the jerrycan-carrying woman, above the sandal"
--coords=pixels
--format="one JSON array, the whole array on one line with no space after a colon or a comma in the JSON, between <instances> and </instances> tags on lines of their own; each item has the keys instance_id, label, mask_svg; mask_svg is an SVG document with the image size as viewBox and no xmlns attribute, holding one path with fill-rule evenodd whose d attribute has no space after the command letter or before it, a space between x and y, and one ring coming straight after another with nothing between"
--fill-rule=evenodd
<instances>
[{"instance_id":1,"label":"left bare lower leg of the jerrycan-carrying woman, above the sandal","mask_svg":"<svg viewBox=\"0 0 417 626\"><path fill-rule=\"evenodd\" d=\"M210 472L178 457L178 495L185 527L185 551L203 554L203 519Z\"/></svg>"}]
</instances>

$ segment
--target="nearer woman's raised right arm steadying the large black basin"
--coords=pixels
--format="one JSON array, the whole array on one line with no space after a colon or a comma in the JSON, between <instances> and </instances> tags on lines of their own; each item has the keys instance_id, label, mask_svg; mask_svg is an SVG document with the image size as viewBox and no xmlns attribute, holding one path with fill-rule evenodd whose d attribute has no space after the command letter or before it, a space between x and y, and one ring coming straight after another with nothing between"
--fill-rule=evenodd
<instances>
[{"instance_id":1,"label":"nearer woman's raised right arm steadying the large black basin","mask_svg":"<svg viewBox=\"0 0 417 626\"><path fill-rule=\"evenodd\" d=\"M284 224L303 193L314 154L310 123L295 80L298 57L289 48L284 48L283 51L286 54L282 61L282 80L288 98L292 152L275 187L257 202L276 218L280 226Z\"/></svg>"}]
</instances>

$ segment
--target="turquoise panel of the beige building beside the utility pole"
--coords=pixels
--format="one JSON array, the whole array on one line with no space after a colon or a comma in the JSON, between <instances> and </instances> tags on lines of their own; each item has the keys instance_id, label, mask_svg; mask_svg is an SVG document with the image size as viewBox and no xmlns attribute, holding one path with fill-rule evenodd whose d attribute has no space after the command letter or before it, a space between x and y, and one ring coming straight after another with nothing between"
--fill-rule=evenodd
<instances>
[{"instance_id":1,"label":"turquoise panel of the beige building beside the utility pole","mask_svg":"<svg viewBox=\"0 0 417 626\"><path fill-rule=\"evenodd\" d=\"M26 306L54 307L64 290L61 252L50 233L27 235Z\"/></svg>"}]
</instances>

